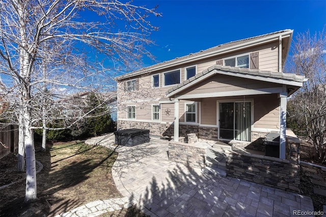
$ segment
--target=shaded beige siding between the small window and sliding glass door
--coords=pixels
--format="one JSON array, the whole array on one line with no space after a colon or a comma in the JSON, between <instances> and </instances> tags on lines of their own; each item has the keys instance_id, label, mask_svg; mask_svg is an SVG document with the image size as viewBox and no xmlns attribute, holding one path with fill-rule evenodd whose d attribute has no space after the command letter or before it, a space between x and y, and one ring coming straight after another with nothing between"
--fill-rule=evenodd
<instances>
[{"instance_id":1,"label":"shaded beige siding between the small window and sliding glass door","mask_svg":"<svg viewBox=\"0 0 326 217\"><path fill-rule=\"evenodd\" d=\"M216 125L216 98L205 98L201 101L201 123Z\"/></svg>"}]
</instances>

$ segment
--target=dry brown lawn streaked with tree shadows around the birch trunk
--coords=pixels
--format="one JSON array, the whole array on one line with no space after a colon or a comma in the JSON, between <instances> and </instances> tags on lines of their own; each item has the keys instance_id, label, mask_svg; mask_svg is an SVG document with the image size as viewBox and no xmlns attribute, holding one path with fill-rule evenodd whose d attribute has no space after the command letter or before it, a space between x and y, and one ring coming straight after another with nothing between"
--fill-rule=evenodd
<instances>
[{"instance_id":1,"label":"dry brown lawn streaked with tree shadows around the birch trunk","mask_svg":"<svg viewBox=\"0 0 326 217\"><path fill-rule=\"evenodd\" d=\"M2 190L1 194L5 197L1 199L0 216L19 216L22 213L22 216L54 216L90 202L85 200L93 198L94 194L97 196L96 192L107 191L105 198L100 199L119 195L112 184L113 180L110 180L116 153L96 146L89 148L85 144L74 145L78 148L73 154L61 155L62 152L56 152L51 156L50 152L58 149L64 151L64 148L71 148L72 145L55 148L53 144L48 144L46 152L37 152L36 159L43 164L43 170L37 174L39 200L30 204L23 203L25 181L17 183ZM52 159L51 162L51 157L56 157L56 160ZM98 174L97 168L105 174ZM16 193L7 194L7 191Z\"/></svg>"}]
</instances>

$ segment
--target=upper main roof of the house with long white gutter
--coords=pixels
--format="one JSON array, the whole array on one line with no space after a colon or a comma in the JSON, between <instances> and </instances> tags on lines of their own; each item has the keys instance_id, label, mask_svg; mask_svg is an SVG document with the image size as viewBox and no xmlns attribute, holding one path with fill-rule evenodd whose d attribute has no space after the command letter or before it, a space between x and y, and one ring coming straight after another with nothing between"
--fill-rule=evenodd
<instances>
[{"instance_id":1,"label":"upper main roof of the house with long white gutter","mask_svg":"<svg viewBox=\"0 0 326 217\"><path fill-rule=\"evenodd\" d=\"M175 65L184 64L184 63L191 62L194 60L200 60L200 59L204 59L204 58L208 58L208 57L212 57L212 56L222 55L223 53L235 51L238 49L243 49L248 46L253 46L256 44L258 45L261 43L275 41L279 37L282 37L282 38L290 37L290 39L291 39L292 33L293 33L293 30L282 30L282 31L268 33L268 34L264 34L264 35L260 35L260 36L251 37L251 38L232 41L232 42L228 42L225 44L220 44L218 46L215 46L215 47L212 47L212 48L209 48L206 50L201 50L196 53L190 53L187 56L175 58L170 61L165 61L165 62L158 63L155 65L146 67L146 68L142 68L137 71L123 74L123 75L117 76L115 79L120 80L120 79L132 77L132 76L136 76L136 75L145 74L145 73L155 71L155 70L165 69L165 68L172 67ZM289 49L289 46L287 47L287 49Z\"/></svg>"}]
</instances>

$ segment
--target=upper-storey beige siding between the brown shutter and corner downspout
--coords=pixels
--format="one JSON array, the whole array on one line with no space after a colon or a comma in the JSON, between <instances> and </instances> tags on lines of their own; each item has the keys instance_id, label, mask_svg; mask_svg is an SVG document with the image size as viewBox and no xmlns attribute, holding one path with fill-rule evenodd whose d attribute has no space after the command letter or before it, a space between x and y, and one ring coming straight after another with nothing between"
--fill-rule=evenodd
<instances>
[{"instance_id":1,"label":"upper-storey beige siding between the brown shutter and corner downspout","mask_svg":"<svg viewBox=\"0 0 326 217\"><path fill-rule=\"evenodd\" d=\"M268 71L278 71L279 51L278 43L274 46L259 51L259 69Z\"/></svg>"}]
</instances>

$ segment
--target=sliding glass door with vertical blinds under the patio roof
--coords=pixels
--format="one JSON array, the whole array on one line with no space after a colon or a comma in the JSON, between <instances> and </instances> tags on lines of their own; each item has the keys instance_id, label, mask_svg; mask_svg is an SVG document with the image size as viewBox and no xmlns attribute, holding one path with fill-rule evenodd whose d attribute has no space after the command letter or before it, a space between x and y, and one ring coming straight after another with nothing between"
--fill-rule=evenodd
<instances>
[{"instance_id":1,"label":"sliding glass door with vertical blinds under the patio roof","mask_svg":"<svg viewBox=\"0 0 326 217\"><path fill-rule=\"evenodd\" d=\"M251 102L220 102L220 139L251 141Z\"/></svg>"}]
</instances>

